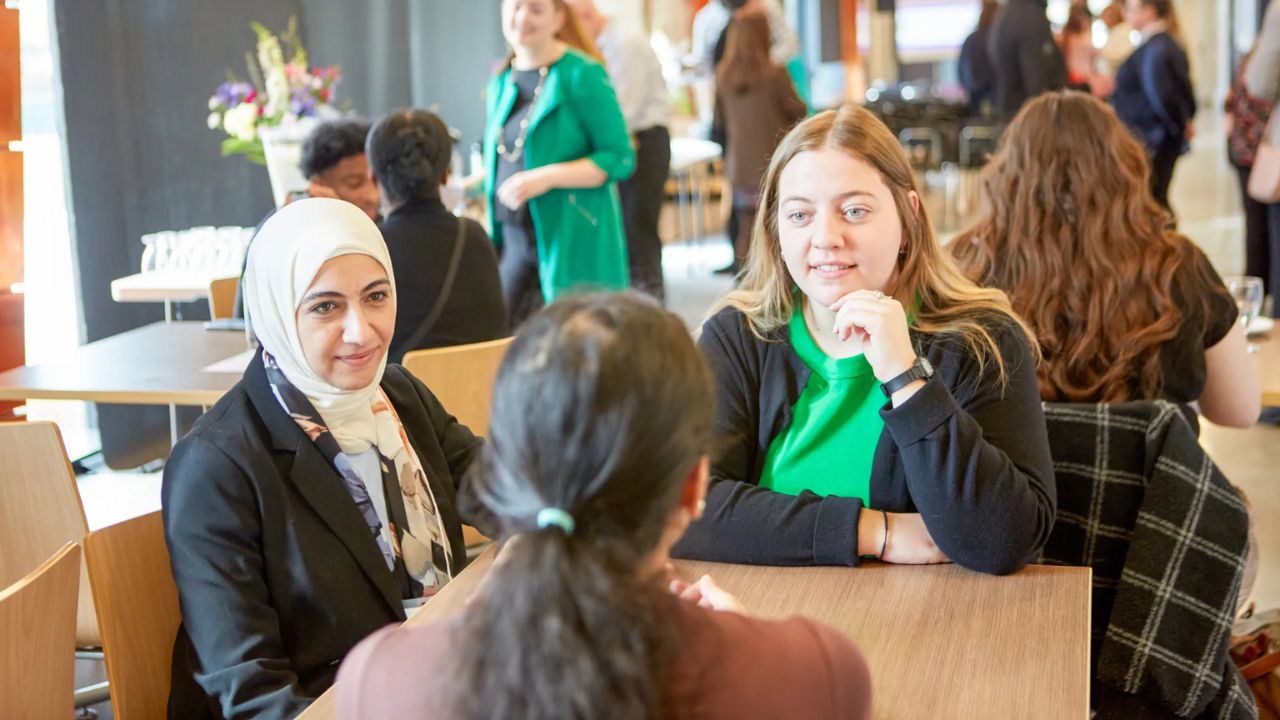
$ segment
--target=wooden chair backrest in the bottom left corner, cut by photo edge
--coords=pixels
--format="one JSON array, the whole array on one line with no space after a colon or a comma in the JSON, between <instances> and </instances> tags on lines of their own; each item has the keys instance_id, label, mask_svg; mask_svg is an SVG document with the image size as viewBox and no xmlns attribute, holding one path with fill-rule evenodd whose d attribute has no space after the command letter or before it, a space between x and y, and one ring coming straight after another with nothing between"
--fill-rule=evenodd
<instances>
[{"instance_id":1,"label":"wooden chair backrest in the bottom left corner, cut by photo edge","mask_svg":"<svg viewBox=\"0 0 1280 720\"><path fill-rule=\"evenodd\" d=\"M76 697L76 594L81 548L0 591L0 716L70 717Z\"/></svg>"}]
</instances>

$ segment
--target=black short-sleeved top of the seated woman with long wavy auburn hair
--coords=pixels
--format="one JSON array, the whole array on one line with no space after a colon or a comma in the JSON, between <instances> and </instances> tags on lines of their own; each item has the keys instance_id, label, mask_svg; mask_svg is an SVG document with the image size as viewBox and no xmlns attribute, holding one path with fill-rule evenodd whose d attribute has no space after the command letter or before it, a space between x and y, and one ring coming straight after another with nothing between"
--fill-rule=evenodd
<instances>
[{"instance_id":1,"label":"black short-sleeved top of the seated woman with long wavy auburn hair","mask_svg":"<svg viewBox=\"0 0 1280 720\"><path fill-rule=\"evenodd\" d=\"M1183 404L1198 400L1208 378L1204 351L1221 342L1239 318L1235 300L1208 258L1199 247L1190 242L1187 245L1190 254L1172 283L1174 302L1183 311L1183 322L1178 325L1178 334L1160 348L1165 386L1158 398L1144 398L1135 378L1135 400L1171 400ZM1197 287L1207 287L1208 291L1190 295L1194 292L1190 288ZM1194 414L1192 419L1194 420Z\"/></svg>"}]
</instances>

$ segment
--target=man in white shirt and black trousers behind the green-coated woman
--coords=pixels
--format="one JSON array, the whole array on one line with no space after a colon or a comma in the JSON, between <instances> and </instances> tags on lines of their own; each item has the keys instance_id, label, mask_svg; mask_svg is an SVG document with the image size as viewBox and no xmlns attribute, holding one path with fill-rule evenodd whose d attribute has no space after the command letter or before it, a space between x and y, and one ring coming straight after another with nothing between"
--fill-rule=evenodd
<instances>
[{"instance_id":1,"label":"man in white shirt and black trousers behind the green-coated woman","mask_svg":"<svg viewBox=\"0 0 1280 720\"><path fill-rule=\"evenodd\" d=\"M671 100L662 63L637 29L602 14L593 0L567 0L582 29L604 55L605 69L636 145L636 172L618 183L626 224L631 284L663 299L658 217L671 170Z\"/></svg>"}]
</instances>

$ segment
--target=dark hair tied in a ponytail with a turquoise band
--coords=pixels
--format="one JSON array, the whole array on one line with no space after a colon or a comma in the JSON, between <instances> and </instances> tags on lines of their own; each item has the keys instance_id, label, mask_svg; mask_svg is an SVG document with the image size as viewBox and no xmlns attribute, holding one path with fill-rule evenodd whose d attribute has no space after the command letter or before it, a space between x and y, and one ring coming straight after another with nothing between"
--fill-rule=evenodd
<instances>
[{"instance_id":1,"label":"dark hair tied in a ponytail with a turquoise band","mask_svg":"<svg viewBox=\"0 0 1280 720\"><path fill-rule=\"evenodd\" d=\"M644 564L710 447L713 407L687 331L648 299L575 296L525 325L476 477L512 539L456 643L461 717L662 715L676 601ZM547 507L572 532L539 528Z\"/></svg>"}]
</instances>

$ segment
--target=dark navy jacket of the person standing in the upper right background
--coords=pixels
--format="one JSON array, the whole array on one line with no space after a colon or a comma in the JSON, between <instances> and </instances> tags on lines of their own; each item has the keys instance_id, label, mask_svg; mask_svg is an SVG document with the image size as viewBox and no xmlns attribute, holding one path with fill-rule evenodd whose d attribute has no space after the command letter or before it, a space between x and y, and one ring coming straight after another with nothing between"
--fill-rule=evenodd
<instances>
[{"instance_id":1,"label":"dark navy jacket of the person standing in the upper right background","mask_svg":"<svg viewBox=\"0 0 1280 720\"><path fill-rule=\"evenodd\" d=\"M1152 36L1116 70L1111 104L1148 149L1184 145L1196 115L1187 51L1167 32Z\"/></svg>"}]
</instances>

